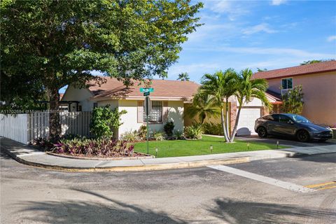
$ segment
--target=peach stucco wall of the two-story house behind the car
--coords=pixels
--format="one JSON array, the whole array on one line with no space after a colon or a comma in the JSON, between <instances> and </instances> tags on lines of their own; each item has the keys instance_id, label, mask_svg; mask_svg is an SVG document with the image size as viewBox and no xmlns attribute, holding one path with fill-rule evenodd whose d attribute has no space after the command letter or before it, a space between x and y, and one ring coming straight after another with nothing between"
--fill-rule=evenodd
<instances>
[{"instance_id":1,"label":"peach stucco wall of the two-story house behind the car","mask_svg":"<svg viewBox=\"0 0 336 224\"><path fill-rule=\"evenodd\" d=\"M288 77L290 78L290 77ZM336 72L293 76L293 86L302 85L302 115L314 123L336 126ZM281 92L281 78L268 80L269 89Z\"/></svg>"}]
</instances>

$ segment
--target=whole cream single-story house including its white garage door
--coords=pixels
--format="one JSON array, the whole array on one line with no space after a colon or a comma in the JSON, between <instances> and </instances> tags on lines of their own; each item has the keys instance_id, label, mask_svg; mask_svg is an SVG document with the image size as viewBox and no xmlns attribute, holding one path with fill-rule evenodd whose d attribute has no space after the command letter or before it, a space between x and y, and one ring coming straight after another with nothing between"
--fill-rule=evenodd
<instances>
[{"instance_id":1,"label":"whole cream single-story house including its white garage door","mask_svg":"<svg viewBox=\"0 0 336 224\"><path fill-rule=\"evenodd\" d=\"M116 78L106 77L106 83L97 85L89 82L87 88L77 89L72 85L66 89L62 101L76 102L69 104L69 111L92 111L96 106L111 105L111 109L118 108L119 111L126 110L127 113L121 117L123 125L119 127L116 137L130 130L139 130L145 125L144 119L144 95L140 92L139 83L126 87ZM150 130L162 131L167 121L173 120L175 130L183 131L185 126L193 123L193 118L184 118L183 113L186 107L192 102L193 95L200 87L192 81L180 80L152 80L151 93L152 111L150 118ZM272 95L273 94L273 95ZM274 92L267 92L269 101L278 104L281 100ZM237 100L230 98L230 125L231 130L235 125L237 116ZM241 109L238 123L237 135L255 134L255 119L265 114L265 109L260 99L253 99ZM220 119L211 118L211 122L220 123Z\"/></svg>"}]
</instances>

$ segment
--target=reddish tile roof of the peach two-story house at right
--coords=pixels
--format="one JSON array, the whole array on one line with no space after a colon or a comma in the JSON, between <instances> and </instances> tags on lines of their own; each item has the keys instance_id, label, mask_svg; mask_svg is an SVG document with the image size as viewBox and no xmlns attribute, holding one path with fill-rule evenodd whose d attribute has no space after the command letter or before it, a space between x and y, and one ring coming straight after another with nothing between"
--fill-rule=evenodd
<instances>
[{"instance_id":1,"label":"reddish tile roof of the peach two-story house at right","mask_svg":"<svg viewBox=\"0 0 336 224\"><path fill-rule=\"evenodd\" d=\"M293 66L285 69L275 69L270 71L260 71L254 73L253 78L282 78L288 76L300 76L328 71L336 71L336 61L319 62L315 64Z\"/></svg>"}]
</instances>

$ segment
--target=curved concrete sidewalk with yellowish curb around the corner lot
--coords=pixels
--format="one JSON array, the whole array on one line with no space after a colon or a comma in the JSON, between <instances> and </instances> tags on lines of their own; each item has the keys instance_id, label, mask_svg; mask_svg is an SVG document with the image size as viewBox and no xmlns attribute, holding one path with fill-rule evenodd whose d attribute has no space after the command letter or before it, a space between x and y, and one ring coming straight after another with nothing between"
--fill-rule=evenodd
<instances>
[{"instance_id":1,"label":"curved concrete sidewalk with yellowish curb around the corner lot","mask_svg":"<svg viewBox=\"0 0 336 224\"><path fill-rule=\"evenodd\" d=\"M72 172L104 171L145 171L158 169L179 169L225 165L253 160L293 157L295 155L313 155L319 153L336 153L336 146L314 146L287 148L281 150L249 151L241 153L223 153L211 155L194 155L174 158L154 158L139 160L76 160L47 155L34 147L17 141L0 137L1 151L25 165L57 169Z\"/></svg>"}]
</instances>

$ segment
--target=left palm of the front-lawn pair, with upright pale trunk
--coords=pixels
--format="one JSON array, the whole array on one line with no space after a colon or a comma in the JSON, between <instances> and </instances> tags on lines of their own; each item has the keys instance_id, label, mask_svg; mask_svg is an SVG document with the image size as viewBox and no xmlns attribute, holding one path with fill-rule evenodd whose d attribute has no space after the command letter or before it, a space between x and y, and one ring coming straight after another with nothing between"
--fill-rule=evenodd
<instances>
[{"instance_id":1,"label":"left palm of the front-lawn pair, with upright pale trunk","mask_svg":"<svg viewBox=\"0 0 336 224\"><path fill-rule=\"evenodd\" d=\"M200 88L205 94L214 96L216 104L221 109L221 122L225 141L232 142L229 132L229 98L237 92L237 73L233 69L205 74ZM225 107L225 110L224 110Z\"/></svg>"}]
</instances>

